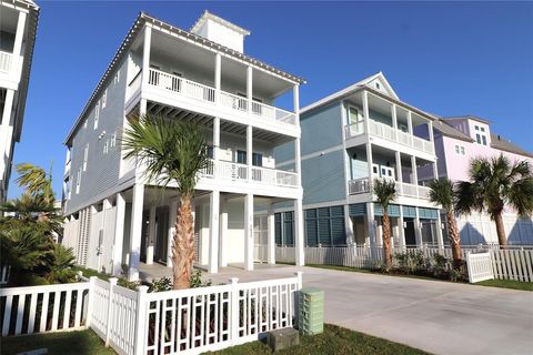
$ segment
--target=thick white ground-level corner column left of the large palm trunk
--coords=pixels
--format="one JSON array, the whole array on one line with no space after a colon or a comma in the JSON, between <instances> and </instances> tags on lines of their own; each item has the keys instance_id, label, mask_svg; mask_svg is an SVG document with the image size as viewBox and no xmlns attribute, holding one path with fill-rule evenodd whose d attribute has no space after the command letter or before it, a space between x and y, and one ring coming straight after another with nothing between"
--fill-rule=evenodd
<instances>
[{"instance_id":1,"label":"thick white ground-level corner column left of the large palm trunk","mask_svg":"<svg viewBox=\"0 0 533 355\"><path fill-rule=\"evenodd\" d=\"M131 227L130 227L130 268L128 280L139 280L139 263L142 243L142 206L144 202L144 185L133 185L133 199L131 201Z\"/></svg>"}]
</instances>

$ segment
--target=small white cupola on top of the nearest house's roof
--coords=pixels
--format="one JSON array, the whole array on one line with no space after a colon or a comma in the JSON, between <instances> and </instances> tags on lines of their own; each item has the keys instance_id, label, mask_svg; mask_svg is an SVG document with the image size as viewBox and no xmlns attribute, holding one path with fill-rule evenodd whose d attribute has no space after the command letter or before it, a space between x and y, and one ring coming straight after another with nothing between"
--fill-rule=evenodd
<instances>
[{"instance_id":1,"label":"small white cupola on top of the nearest house's roof","mask_svg":"<svg viewBox=\"0 0 533 355\"><path fill-rule=\"evenodd\" d=\"M207 38L210 41L231 48L241 53L244 52L244 37L250 31L227 21L208 10L198 19L191 28L191 32Z\"/></svg>"}]
</instances>

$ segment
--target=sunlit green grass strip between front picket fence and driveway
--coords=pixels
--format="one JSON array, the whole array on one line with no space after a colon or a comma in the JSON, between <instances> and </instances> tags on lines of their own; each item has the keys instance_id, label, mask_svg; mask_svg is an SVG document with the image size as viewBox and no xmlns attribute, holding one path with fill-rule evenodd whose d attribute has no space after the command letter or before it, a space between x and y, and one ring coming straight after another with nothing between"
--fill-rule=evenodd
<instances>
[{"instance_id":1,"label":"sunlit green grass strip between front picket fence and driveway","mask_svg":"<svg viewBox=\"0 0 533 355\"><path fill-rule=\"evenodd\" d=\"M261 342L248 343L230 347L220 352L209 353L220 355L270 355L270 347ZM418 348L389 342L379 337L352 332L335 325L325 324L324 333L300 338L300 345L276 354L311 355L311 354L393 354L419 355L429 354Z\"/></svg>"}]
</instances>

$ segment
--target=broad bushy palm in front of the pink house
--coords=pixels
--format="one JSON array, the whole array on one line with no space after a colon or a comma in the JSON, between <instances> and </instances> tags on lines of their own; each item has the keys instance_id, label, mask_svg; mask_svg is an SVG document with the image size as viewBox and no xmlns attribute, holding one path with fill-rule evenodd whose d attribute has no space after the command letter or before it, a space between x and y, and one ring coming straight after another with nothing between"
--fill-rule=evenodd
<instances>
[{"instance_id":1,"label":"broad bushy palm in front of the pink house","mask_svg":"<svg viewBox=\"0 0 533 355\"><path fill-rule=\"evenodd\" d=\"M500 246L507 245L502 212L510 206L521 216L533 214L533 172L527 161L511 163L500 156L473 159L469 170L470 181L459 183L455 210L470 214L473 210L486 211L496 223Z\"/></svg>"}]
</instances>

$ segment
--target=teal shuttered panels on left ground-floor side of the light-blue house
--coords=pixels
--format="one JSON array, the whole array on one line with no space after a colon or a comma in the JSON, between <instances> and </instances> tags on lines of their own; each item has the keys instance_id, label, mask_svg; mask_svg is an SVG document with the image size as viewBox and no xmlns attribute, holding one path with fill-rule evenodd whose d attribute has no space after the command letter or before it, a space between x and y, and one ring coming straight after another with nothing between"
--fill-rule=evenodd
<instances>
[{"instance_id":1,"label":"teal shuttered panels on left ground-floor side of the light-blue house","mask_svg":"<svg viewBox=\"0 0 533 355\"><path fill-rule=\"evenodd\" d=\"M345 245L344 207L305 210L305 244L310 246Z\"/></svg>"}]
</instances>

